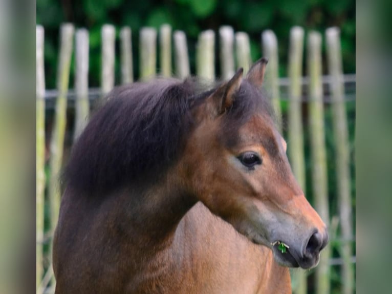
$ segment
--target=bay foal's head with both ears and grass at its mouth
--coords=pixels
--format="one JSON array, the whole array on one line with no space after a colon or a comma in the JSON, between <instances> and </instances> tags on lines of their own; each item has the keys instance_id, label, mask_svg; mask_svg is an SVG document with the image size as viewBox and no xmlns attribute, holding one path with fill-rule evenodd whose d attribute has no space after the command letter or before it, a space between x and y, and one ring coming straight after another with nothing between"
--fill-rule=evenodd
<instances>
[{"instance_id":1,"label":"bay foal's head with both ears and grass at its mouth","mask_svg":"<svg viewBox=\"0 0 392 294\"><path fill-rule=\"evenodd\" d=\"M279 264L311 268L328 233L293 176L286 141L259 91L266 64L260 59L246 77L238 70L192 109L183 181L213 214L271 248Z\"/></svg>"}]
</instances>

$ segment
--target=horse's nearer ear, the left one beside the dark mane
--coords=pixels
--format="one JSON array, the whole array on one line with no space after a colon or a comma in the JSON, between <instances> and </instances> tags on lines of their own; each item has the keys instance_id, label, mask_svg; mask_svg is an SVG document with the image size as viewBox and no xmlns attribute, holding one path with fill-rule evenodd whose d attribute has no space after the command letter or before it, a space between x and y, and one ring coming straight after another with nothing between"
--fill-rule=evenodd
<instances>
[{"instance_id":1,"label":"horse's nearer ear, the left one beside the dark mane","mask_svg":"<svg viewBox=\"0 0 392 294\"><path fill-rule=\"evenodd\" d=\"M243 68L238 69L228 82L224 83L212 94L211 98L213 100L215 114L221 115L232 106L235 93L241 86L243 73Z\"/></svg>"}]
</instances>

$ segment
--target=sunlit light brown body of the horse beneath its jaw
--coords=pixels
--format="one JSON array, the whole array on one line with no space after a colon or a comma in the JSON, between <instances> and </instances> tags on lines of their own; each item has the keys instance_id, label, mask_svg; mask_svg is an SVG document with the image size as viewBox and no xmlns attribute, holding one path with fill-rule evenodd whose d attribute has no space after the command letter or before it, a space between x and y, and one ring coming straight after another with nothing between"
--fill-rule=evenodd
<instances>
[{"instance_id":1,"label":"sunlit light brown body of the horse beneath its jaw","mask_svg":"<svg viewBox=\"0 0 392 294\"><path fill-rule=\"evenodd\" d=\"M291 292L289 270L270 249L249 242L200 202L181 220L174 246L185 292Z\"/></svg>"}]
</instances>

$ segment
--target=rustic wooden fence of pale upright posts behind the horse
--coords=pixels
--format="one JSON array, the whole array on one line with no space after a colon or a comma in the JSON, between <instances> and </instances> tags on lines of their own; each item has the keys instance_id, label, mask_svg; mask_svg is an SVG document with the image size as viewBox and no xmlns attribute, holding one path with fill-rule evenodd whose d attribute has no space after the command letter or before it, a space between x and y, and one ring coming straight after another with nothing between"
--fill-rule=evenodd
<instances>
[{"instance_id":1,"label":"rustic wooden fence of pale upright posts behind the horse","mask_svg":"<svg viewBox=\"0 0 392 294\"><path fill-rule=\"evenodd\" d=\"M121 83L133 82L133 58L131 30L129 27L120 30L120 63ZM107 94L115 86L115 38L116 29L112 25L104 25L101 31L102 66L101 88L96 96ZM245 72L251 65L249 37L245 32L234 32L229 26L223 26L215 38L215 32L207 30L199 35L196 44L196 72L190 72L186 35L182 31L172 32L169 25L161 26L159 32L153 28L143 28L139 32L139 64L140 79L148 80L157 74L171 76L174 64L175 76L184 78L196 74L204 79L215 79L215 39L219 41L219 64L221 77L229 79L236 68L243 67ZM50 157L45 163L45 109L46 102L50 102L50 93L45 89L45 70L43 67L44 29L36 28L37 40L37 148L36 148L36 283L37 292L53 292L55 284L51 267L51 236L58 219L60 194L58 175L63 162L64 136L66 132L67 103L73 102L75 108L74 139L83 130L88 121L91 92L88 85L89 76L89 32L85 29L75 31L72 24L63 24L60 28L60 51L57 72L57 89L55 96L55 112L53 128L50 134ZM75 44L74 44L75 40ZM306 190L310 181L312 203L321 218L329 225L331 242L321 255L320 264L313 271L294 270L292 284L294 293L307 293L309 279L315 285L316 293L330 293L332 247L334 240L343 240L335 249L338 251L341 275L338 292L349 294L354 292L355 257L353 257L353 212L352 212L352 175L350 174L349 131L347 129L347 114L345 110L345 89L343 75L339 29L329 28L325 31L326 60L329 76L322 76L321 46L322 35L310 32L304 48L304 30L294 27L290 31L288 78L278 76L278 44L274 32L267 30L261 35L263 56L268 57L269 64L266 72L265 89L268 92L278 119L285 118L287 137L289 142L289 159L295 177ZM173 44L173 49L172 45ZM157 48L159 47L159 48ZM159 49L159 50L158 50ZM306 49L306 50L304 50ZM306 51L306 56L303 52ZM72 91L74 99L70 99L69 76L72 54L75 54L75 89ZM157 52L160 64L157 66ZM171 57L174 56L172 62ZM303 77L303 59L306 64L307 76ZM253 60L254 61L254 60ZM216 62L218 63L218 62ZM160 71L157 73L157 68ZM355 76L349 76L355 82ZM286 97L282 93L281 85L287 86ZM330 93L327 97L326 92ZM306 93L306 94L305 94ZM302 113L306 100L307 113ZM52 101L53 102L53 101ZM286 103L286 104L285 104ZM325 143L325 104L331 108L332 131L334 134L334 162L328 162ZM287 109L281 109L282 105ZM283 116L281 114L284 114ZM309 132L309 150L311 154L311 177L306 177L304 125L306 120ZM279 120L279 128L282 131ZM286 134L285 134L286 135ZM339 209L336 215L331 215L328 191L329 164L335 166L334 179L337 190L336 203ZM47 175L45 176L45 167ZM331 176L331 175L330 175ZM46 188L47 187L47 188ZM307 191L305 191L307 194ZM49 222L45 222L45 212ZM46 223L46 224L45 224ZM339 232L339 236L337 235ZM335 254L336 256L336 254ZM354 262L353 262L354 258ZM52 285L50 287L50 285ZM336 292L336 289L334 290Z\"/></svg>"}]
</instances>

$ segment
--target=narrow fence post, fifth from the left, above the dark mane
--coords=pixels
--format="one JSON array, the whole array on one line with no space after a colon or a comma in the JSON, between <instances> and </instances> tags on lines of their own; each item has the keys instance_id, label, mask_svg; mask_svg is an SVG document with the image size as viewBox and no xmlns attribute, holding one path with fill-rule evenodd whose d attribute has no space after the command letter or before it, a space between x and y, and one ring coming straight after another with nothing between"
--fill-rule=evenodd
<instances>
[{"instance_id":1,"label":"narrow fence post, fifth from the left, above the dark mane","mask_svg":"<svg viewBox=\"0 0 392 294\"><path fill-rule=\"evenodd\" d=\"M129 27L123 27L120 31L121 42L121 83L134 81L134 68L132 59L132 31Z\"/></svg>"}]
</instances>

